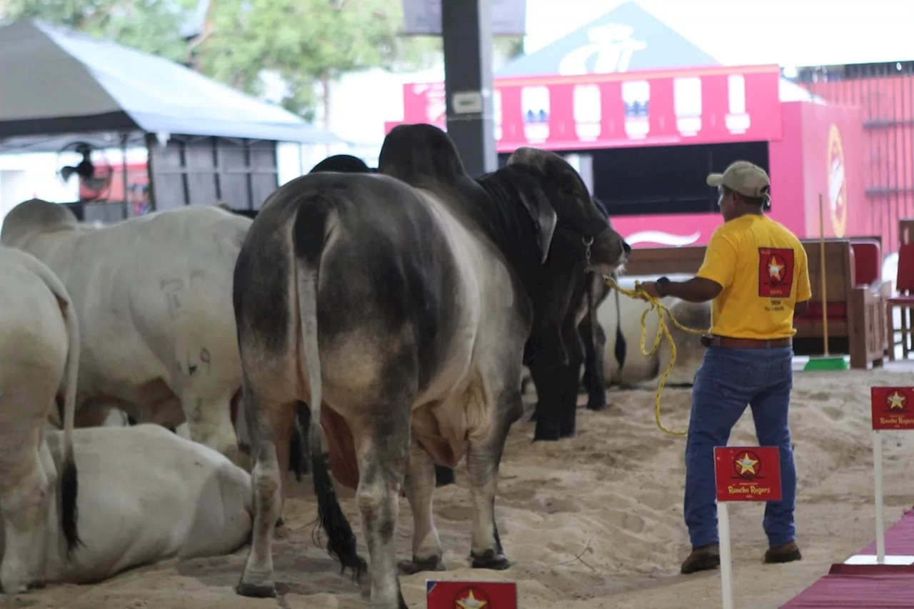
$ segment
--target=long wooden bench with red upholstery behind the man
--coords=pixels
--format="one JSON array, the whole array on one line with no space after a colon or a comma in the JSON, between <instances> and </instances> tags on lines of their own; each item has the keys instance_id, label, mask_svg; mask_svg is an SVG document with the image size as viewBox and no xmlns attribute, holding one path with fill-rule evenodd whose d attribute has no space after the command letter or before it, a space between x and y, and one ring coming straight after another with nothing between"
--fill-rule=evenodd
<instances>
[{"instance_id":1,"label":"long wooden bench with red upholstery behind the man","mask_svg":"<svg viewBox=\"0 0 914 609\"><path fill-rule=\"evenodd\" d=\"M851 368L868 369L882 365L887 347L885 298L891 284L882 283L881 240L825 240L826 284L824 299L828 319L828 347L831 353L847 353ZM793 340L796 355L822 355L823 298L818 240L802 240L809 263L813 297L803 315L794 318L797 334ZM855 248L866 260L869 283L856 281ZM704 246L680 248L643 248L632 251L625 265L626 275L694 274L705 259ZM861 261L863 262L863 260ZM873 272L872 266L877 270Z\"/></svg>"}]
</instances>

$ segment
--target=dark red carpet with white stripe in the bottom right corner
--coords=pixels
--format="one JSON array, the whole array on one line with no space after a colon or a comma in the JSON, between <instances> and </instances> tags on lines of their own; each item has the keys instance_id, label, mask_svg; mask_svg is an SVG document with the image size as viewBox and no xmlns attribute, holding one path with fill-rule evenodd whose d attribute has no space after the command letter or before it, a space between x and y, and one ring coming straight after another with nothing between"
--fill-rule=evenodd
<instances>
[{"instance_id":1,"label":"dark red carpet with white stripe in the bottom right corner","mask_svg":"<svg viewBox=\"0 0 914 609\"><path fill-rule=\"evenodd\" d=\"M876 554L876 542L858 554ZM886 530L886 554L914 555L914 510ZM914 567L832 565L818 582L781 609L914 608Z\"/></svg>"}]
</instances>

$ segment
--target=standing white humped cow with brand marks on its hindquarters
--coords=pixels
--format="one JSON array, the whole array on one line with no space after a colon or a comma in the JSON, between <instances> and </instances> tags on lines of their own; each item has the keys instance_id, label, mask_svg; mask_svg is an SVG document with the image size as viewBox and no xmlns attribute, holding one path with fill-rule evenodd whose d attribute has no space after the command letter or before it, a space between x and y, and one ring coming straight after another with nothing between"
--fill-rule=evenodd
<instances>
[{"instance_id":1,"label":"standing white humped cow with brand marks on its hindquarters","mask_svg":"<svg viewBox=\"0 0 914 609\"><path fill-rule=\"evenodd\" d=\"M232 276L250 219L195 206L96 228L31 199L0 243L34 254L67 286L80 317L77 424L116 406L236 458L230 402L241 389Z\"/></svg>"}]
</instances>

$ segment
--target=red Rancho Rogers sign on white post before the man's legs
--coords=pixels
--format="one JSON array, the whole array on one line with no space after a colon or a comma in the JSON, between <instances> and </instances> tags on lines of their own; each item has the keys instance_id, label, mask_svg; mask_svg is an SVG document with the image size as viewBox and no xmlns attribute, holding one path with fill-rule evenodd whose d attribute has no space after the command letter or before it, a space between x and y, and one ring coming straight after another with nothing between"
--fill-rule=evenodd
<instances>
[{"instance_id":1,"label":"red Rancho Rogers sign on white post before the man's legs","mask_svg":"<svg viewBox=\"0 0 914 609\"><path fill-rule=\"evenodd\" d=\"M730 501L780 501L781 456L777 446L716 446L717 528L720 537L720 590L724 609L733 609L730 556Z\"/></svg>"}]
</instances>

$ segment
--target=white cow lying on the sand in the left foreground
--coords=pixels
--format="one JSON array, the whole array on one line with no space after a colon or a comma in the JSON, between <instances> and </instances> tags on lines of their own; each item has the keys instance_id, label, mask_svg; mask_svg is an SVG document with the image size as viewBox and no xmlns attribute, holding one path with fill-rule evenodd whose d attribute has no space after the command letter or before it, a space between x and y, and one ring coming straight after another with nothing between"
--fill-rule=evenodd
<instances>
[{"instance_id":1,"label":"white cow lying on the sand in the left foreground","mask_svg":"<svg viewBox=\"0 0 914 609\"><path fill-rule=\"evenodd\" d=\"M54 462L60 435L48 431ZM77 429L73 441L85 545L64 560L50 501L47 582L100 582L158 561L228 554L250 539L250 474L222 454L149 423Z\"/></svg>"}]
</instances>

